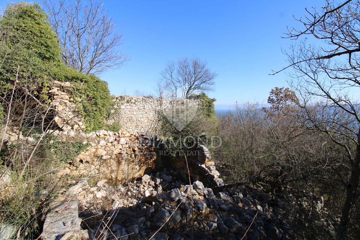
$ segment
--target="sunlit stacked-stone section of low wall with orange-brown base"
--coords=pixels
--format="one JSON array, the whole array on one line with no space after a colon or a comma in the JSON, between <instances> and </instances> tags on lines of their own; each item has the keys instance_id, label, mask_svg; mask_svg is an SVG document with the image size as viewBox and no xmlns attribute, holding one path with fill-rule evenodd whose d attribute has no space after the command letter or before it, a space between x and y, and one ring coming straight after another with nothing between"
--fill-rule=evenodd
<instances>
[{"instance_id":1,"label":"sunlit stacked-stone section of low wall with orange-brown base","mask_svg":"<svg viewBox=\"0 0 360 240\"><path fill-rule=\"evenodd\" d=\"M73 135L71 131L65 133L66 136ZM66 140L64 132L54 131L54 134ZM59 175L99 174L115 183L124 183L142 176L148 167L155 167L157 156L150 139L144 133L99 130L87 135L79 133L79 136L91 146L78 155L72 165L60 171Z\"/></svg>"}]
</instances>

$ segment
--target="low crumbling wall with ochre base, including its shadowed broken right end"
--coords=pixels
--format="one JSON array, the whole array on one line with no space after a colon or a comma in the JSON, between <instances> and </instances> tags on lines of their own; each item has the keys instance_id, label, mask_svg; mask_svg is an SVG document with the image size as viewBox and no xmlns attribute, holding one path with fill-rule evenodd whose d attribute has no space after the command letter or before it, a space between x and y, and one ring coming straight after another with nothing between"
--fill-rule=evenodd
<instances>
[{"instance_id":1,"label":"low crumbling wall with ochre base, including its shadowed broken right end","mask_svg":"<svg viewBox=\"0 0 360 240\"><path fill-rule=\"evenodd\" d=\"M63 136L63 133L54 131ZM67 133L68 134L68 133ZM99 130L88 135L81 133L84 142L90 147L78 155L74 162L69 163L58 174L69 174L76 177L98 176L107 180L108 184L116 186L127 184L144 174L150 174L163 168L179 171L184 180L190 177L202 181L206 186L221 186L222 179L216 171L210 152L205 146L200 146L196 155L185 159L184 156L161 156L162 148L156 137L149 138L138 133L120 130L111 132ZM64 137L66 139L66 137ZM188 164L186 164L188 161Z\"/></svg>"}]
</instances>

